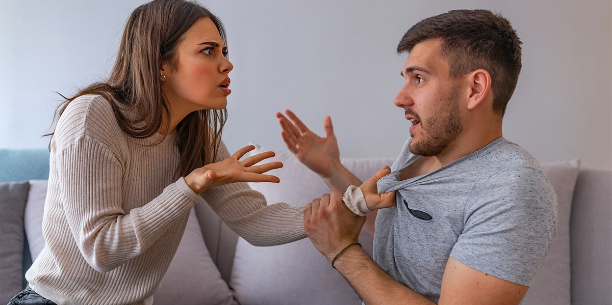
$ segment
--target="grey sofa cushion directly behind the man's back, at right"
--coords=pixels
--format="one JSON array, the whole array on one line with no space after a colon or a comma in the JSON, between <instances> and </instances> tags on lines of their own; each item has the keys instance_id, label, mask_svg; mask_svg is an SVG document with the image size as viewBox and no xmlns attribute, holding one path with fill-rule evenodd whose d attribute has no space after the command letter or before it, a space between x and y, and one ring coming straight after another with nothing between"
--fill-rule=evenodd
<instances>
[{"instance_id":1,"label":"grey sofa cushion directly behind the man's back, at right","mask_svg":"<svg viewBox=\"0 0 612 305\"><path fill-rule=\"evenodd\" d=\"M566 304L569 305L571 291L570 270L570 213L572 197L580 169L580 161L543 163L559 202L559 221L553 244L542 265L535 274L523 305Z\"/></svg>"}]
</instances>

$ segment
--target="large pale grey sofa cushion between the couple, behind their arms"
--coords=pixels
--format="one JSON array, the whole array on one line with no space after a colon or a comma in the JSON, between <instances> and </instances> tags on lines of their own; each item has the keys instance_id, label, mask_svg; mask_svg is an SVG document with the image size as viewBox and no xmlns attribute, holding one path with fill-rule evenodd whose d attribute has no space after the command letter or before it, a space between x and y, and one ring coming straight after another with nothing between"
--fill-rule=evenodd
<instances>
[{"instance_id":1,"label":"large pale grey sofa cushion between the couple, behind their arms","mask_svg":"<svg viewBox=\"0 0 612 305\"><path fill-rule=\"evenodd\" d=\"M252 153L269 150L258 145L256 147ZM269 203L305 205L329 193L330 189L323 180L299 163L291 153L277 152L272 159L284 164L282 169L272 172L281 182L250 183L253 189L266 196ZM394 160L372 158L342 161L357 177L365 179ZM371 235L362 232L360 241L364 249L371 253ZM308 238L271 247L252 246L239 238L230 287L243 305L361 304L353 288Z\"/></svg>"}]
</instances>

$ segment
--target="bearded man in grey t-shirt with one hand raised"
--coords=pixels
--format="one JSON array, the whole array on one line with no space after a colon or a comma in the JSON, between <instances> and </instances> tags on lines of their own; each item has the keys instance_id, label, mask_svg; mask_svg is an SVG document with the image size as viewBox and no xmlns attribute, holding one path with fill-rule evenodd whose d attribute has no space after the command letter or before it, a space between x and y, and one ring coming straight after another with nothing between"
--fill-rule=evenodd
<instances>
[{"instance_id":1,"label":"bearded man in grey t-shirt with one hand raised","mask_svg":"<svg viewBox=\"0 0 612 305\"><path fill-rule=\"evenodd\" d=\"M333 189L305 208L308 237L364 303L518 304L527 292L558 208L535 158L502 137L520 43L487 10L454 10L409 29L398 45L408 58L395 105L411 138L390 169L363 184L340 164L329 117L319 138L292 112L293 123L277 114L289 150ZM339 190L350 185L361 186ZM357 215L378 208L365 225L372 232L376 218L372 260L356 243L365 222Z\"/></svg>"}]
</instances>

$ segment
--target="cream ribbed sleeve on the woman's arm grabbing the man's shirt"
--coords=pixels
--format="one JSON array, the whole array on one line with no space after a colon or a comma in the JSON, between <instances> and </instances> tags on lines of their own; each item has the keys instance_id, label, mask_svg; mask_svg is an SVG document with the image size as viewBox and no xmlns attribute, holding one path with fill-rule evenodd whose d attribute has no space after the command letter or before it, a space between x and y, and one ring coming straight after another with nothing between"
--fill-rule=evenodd
<instances>
[{"instance_id":1,"label":"cream ribbed sleeve on the woman's arm grabbing the man's shirt","mask_svg":"<svg viewBox=\"0 0 612 305\"><path fill-rule=\"evenodd\" d=\"M223 142L217 155L217 161L230 157ZM267 205L263 194L247 183L217 186L201 196L234 232L255 246L274 246L306 237L304 207L285 202Z\"/></svg>"}]
</instances>

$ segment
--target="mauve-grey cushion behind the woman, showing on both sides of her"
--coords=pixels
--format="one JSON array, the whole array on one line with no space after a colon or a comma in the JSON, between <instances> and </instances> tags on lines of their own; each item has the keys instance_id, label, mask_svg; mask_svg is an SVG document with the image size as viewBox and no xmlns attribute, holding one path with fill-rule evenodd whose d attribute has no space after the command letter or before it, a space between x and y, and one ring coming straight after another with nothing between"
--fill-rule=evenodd
<instances>
[{"instance_id":1,"label":"mauve-grey cushion behind the woman, showing on both sides of her","mask_svg":"<svg viewBox=\"0 0 612 305\"><path fill-rule=\"evenodd\" d=\"M40 254L45 245L42 236L42 219L46 194L47 180L31 181L24 218L34 258ZM189 215L179 248L160 282L154 299L155 304L236 304L230 288L221 279L219 271L211 260L193 210Z\"/></svg>"}]
</instances>

